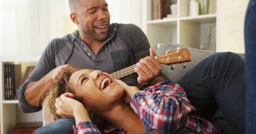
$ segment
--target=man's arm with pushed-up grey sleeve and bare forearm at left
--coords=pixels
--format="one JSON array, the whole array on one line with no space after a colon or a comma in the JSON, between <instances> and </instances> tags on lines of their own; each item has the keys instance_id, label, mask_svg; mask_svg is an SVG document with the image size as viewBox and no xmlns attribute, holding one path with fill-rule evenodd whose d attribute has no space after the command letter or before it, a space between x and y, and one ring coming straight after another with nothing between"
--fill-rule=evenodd
<instances>
[{"instance_id":1,"label":"man's arm with pushed-up grey sleeve and bare forearm at left","mask_svg":"<svg viewBox=\"0 0 256 134\"><path fill-rule=\"evenodd\" d=\"M50 79L45 79L49 78L47 74L55 68L55 47L52 44L53 42L50 42L47 45L29 78L17 89L19 108L24 113L40 111L42 108L39 96L42 95L41 92L49 90L47 88L53 84L53 82L46 84Z\"/></svg>"}]
</instances>

